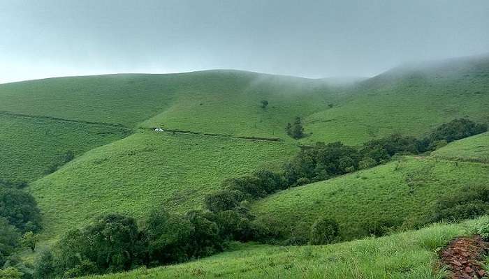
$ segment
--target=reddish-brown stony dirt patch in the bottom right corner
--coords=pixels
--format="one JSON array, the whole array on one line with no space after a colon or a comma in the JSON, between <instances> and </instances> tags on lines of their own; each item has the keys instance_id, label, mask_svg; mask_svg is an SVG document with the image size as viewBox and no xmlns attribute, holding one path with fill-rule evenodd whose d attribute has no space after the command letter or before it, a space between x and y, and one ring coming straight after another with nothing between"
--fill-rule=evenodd
<instances>
[{"instance_id":1,"label":"reddish-brown stony dirt patch in the bottom right corner","mask_svg":"<svg viewBox=\"0 0 489 279\"><path fill-rule=\"evenodd\" d=\"M450 277L452 279L484 278L489 275L482 268L483 256L486 255L488 248L488 243L480 236L461 237L453 239L440 252L440 257L452 272Z\"/></svg>"}]
</instances>

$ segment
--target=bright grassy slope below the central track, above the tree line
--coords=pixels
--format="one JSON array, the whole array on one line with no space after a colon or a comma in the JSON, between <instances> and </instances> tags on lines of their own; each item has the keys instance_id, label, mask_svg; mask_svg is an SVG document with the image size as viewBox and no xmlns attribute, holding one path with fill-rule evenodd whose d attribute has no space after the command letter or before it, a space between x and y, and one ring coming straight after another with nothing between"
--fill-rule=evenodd
<instances>
[{"instance_id":1,"label":"bright grassy slope below the central track, above the tree line","mask_svg":"<svg viewBox=\"0 0 489 279\"><path fill-rule=\"evenodd\" d=\"M103 212L142 216L156 206L187 211L226 178L276 167L296 151L283 142L136 133L102 146L33 183L53 236Z\"/></svg>"}]
</instances>

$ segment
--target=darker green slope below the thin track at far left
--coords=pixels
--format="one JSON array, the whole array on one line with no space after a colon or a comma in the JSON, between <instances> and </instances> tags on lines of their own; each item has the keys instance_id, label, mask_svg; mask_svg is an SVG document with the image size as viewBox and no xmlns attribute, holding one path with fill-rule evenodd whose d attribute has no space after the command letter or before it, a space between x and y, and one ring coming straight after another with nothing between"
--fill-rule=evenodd
<instances>
[{"instance_id":1,"label":"darker green slope below the thin track at far left","mask_svg":"<svg viewBox=\"0 0 489 279\"><path fill-rule=\"evenodd\" d=\"M75 155L129 133L115 127L0 114L0 179L34 181L59 156Z\"/></svg>"}]
</instances>

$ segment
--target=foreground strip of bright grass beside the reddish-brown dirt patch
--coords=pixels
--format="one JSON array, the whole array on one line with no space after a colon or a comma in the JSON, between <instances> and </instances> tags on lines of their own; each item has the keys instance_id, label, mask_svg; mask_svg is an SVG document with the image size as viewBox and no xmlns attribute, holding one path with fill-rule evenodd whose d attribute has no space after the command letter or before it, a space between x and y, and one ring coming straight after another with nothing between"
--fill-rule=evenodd
<instances>
[{"instance_id":1,"label":"foreground strip of bright grass beside the reddish-brown dirt patch","mask_svg":"<svg viewBox=\"0 0 489 279\"><path fill-rule=\"evenodd\" d=\"M89 278L444 278L437 250L453 237L469 234L472 223L432 225L329 246L247 245L186 264Z\"/></svg>"}]
</instances>

